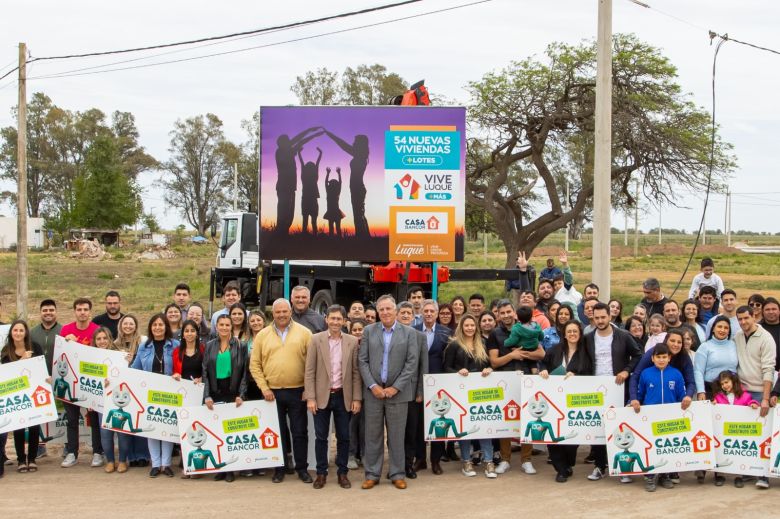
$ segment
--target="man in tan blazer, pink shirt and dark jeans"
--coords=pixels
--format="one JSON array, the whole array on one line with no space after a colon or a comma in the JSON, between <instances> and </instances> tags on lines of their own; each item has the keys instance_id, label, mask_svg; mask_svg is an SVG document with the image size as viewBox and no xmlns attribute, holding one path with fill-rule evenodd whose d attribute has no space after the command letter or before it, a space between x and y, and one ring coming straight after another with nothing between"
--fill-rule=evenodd
<instances>
[{"instance_id":1,"label":"man in tan blazer, pink shirt and dark jeans","mask_svg":"<svg viewBox=\"0 0 780 519\"><path fill-rule=\"evenodd\" d=\"M328 433L330 417L336 428L336 466L341 488L350 488L349 420L360 412L363 401L362 381L357 365L358 341L341 333L344 326L344 307L328 307L325 319L328 330L315 333L306 352L304 393L306 406L314 415L315 455L317 477L314 488L325 486L328 477Z\"/></svg>"}]
</instances>

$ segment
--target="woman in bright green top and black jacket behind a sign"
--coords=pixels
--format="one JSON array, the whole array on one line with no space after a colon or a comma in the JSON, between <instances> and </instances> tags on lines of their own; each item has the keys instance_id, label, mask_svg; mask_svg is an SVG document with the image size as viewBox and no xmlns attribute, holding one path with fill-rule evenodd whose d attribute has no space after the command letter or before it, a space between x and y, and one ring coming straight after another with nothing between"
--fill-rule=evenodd
<instances>
[{"instance_id":1,"label":"woman in bright green top and black jacket behind a sign","mask_svg":"<svg viewBox=\"0 0 780 519\"><path fill-rule=\"evenodd\" d=\"M203 352L203 394L209 409L214 404L235 402L240 406L246 398L247 349L233 336L233 321L230 315L217 318L217 337L206 344ZM215 481L232 483L233 472L220 472Z\"/></svg>"}]
</instances>

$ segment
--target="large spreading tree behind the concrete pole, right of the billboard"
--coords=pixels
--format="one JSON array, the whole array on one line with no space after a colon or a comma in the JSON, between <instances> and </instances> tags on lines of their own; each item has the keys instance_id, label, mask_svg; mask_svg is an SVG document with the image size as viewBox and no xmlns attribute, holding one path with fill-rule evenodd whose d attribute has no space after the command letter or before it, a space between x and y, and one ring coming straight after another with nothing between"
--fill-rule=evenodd
<instances>
[{"instance_id":1,"label":"large spreading tree behind the concrete pole, right of the billboard","mask_svg":"<svg viewBox=\"0 0 780 519\"><path fill-rule=\"evenodd\" d=\"M468 203L492 216L506 249L506 266L518 250L526 254L550 233L585 211L593 196L592 163L576 158L576 139L592 140L596 52L593 42L554 43L544 62L526 59L472 82L470 121L477 137L469 141ZM660 51L632 35L613 40L613 193L634 203L629 187L640 177L646 196L675 204L683 191L707 183L710 119L683 94L676 69ZM590 146L588 145L587 148ZM731 147L715 142L717 183L733 168ZM571 209L563 203L572 184ZM541 181L545 199L527 213L526 197Z\"/></svg>"}]
</instances>

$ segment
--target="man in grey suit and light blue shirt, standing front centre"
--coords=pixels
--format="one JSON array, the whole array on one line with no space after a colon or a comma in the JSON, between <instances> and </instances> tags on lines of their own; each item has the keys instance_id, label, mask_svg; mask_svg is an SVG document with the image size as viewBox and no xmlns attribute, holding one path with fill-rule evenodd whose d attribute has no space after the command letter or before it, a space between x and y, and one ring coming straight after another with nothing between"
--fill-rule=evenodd
<instances>
[{"instance_id":1,"label":"man in grey suit and light blue shirt, standing front centre","mask_svg":"<svg viewBox=\"0 0 780 519\"><path fill-rule=\"evenodd\" d=\"M363 330L358 353L366 416L366 479L362 488L368 490L379 483L387 426L390 479L403 490L404 431L408 403L415 397L413 379L420 362L419 339L415 330L396 321L392 296L380 296L376 309L379 322Z\"/></svg>"}]
</instances>

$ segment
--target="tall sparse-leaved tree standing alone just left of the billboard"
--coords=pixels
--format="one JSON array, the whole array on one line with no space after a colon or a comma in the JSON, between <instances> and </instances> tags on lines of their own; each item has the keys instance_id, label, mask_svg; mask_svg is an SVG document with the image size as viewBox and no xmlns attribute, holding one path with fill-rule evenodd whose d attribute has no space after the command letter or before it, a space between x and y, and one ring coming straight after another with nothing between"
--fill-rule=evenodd
<instances>
[{"instance_id":1,"label":"tall sparse-leaved tree standing alone just left of the billboard","mask_svg":"<svg viewBox=\"0 0 780 519\"><path fill-rule=\"evenodd\" d=\"M204 235L226 204L224 185L232 171L227 155L234 145L214 114L178 120L170 135L171 158L163 164L165 201Z\"/></svg>"}]
</instances>

